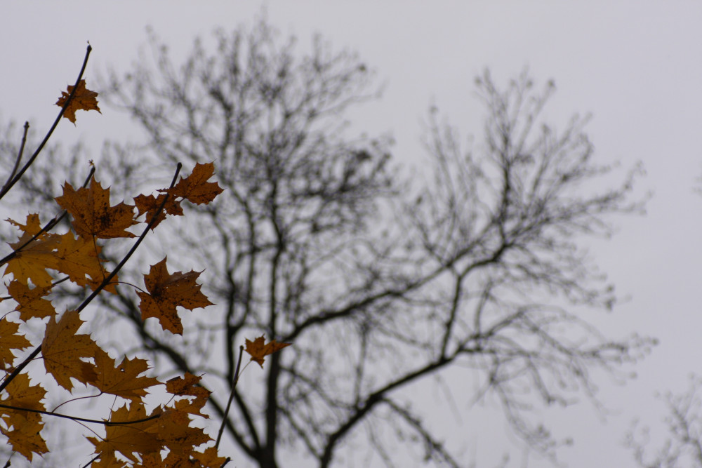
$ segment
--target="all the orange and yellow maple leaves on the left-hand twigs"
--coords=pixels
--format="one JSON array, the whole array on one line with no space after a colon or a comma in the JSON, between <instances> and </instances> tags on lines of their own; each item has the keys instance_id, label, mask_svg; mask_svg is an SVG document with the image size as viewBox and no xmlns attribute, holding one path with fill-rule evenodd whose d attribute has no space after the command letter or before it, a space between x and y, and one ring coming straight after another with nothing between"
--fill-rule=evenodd
<instances>
[{"instance_id":1,"label":"all the orange and yellow maple leaves on the left-hand twigs","mask_svg":"<svg viewBox=\"0 0 702 468\"><path fill-rule=\"evenodd\" d=\"M69 86L68 93L63 93L57 102L67 119L75 123L78 109L99 112L97 93L86 89L85 80L79 79L77 90L69 100L72 91L73 86ZM145 223L140 241L166 215L183 215L182 201L210 203L223 191L216 182L208 181L213 173L213 163L198 163L189 176L159 190L157 196L136 196L134 206L124 202L111 206L110 189L103 189L92 175L87 187L74 189L66 182L62 196L55 199L72 218L72 229L64 234L48 229L55 226L55 220L42 227L38 214L27 215L24 224L8 220L20 229L20 235L16 242L10 243L11 253L0 260L0 267L4 266L3 286L7 290L0 300L16 302L12 312L0 317L0 367L4 372L0 380L0 432L15 453L30 461L33 455L47 453L49 448L41 434L44 424L51 418L68 417L82 424L104 427L104 434L97 435L99 428L91 429L95 435L87 437L95 446L88 464L95 468L214 468L228 461L218 455L217 446L210 443L211 437L191 424L193 418L208 417L202 409L210 392L199 384L201 377L186 373L168 380L165 387L171 394L170 401L147 411L147 389L164 385L145 375L150 368L148 362L126 356L117 362L89 333L79 333L84 324L81 311L102 290L117 293L117 272L128 258L113 272L107 272L100 256L100 243L106 239L136 237L127 229ZM143 215L145 220L138 221ZM144 276L145 288L137 291L142 318L156 318L164 330L182 334L177 308L192 310L211 305L196 282L199 274L168 273L166 258L152 265ZM53 286L65 279L92 293L75 309L59 312L48 296ZM38 322L45 325L41 343L31 342L22 333L22 324L28 321L34 321L34 329ZM251 361L261 366L265 356L285 346L286 343L275 340L265 343L264 337L246 340ZM22 352L32 347L29 354ZM36 359L41 359L46 374L69 392L76 381L93 388L95 396L111 394L119 399L115 399L109 415L103 415L104 420L52 412L44 403L46 390L40 383L32 382L29 370L25 369ZM32 375L37 372L39 369L34 366ZM201 448L204 444L208 446Z\"/></svg>"}]
</instances>

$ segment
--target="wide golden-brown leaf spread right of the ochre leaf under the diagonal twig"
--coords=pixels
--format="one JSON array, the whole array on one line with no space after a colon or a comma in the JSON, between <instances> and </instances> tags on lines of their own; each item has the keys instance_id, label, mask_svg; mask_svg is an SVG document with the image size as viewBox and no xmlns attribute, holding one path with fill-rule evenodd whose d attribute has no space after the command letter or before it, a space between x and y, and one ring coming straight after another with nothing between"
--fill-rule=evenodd
<instances>
[{"instance_id":1,"label":"wide golden-brown leaf spread right of the ochre leaf under the diagonal twig","mask_svg":"<svg viewBox=\"0 0 702 468\"><path fill-rule=\"evenodd\" d=\"M98 377L91 384L100 392L136 400L146 396L148 387L161 383L153 377L139 377L149 369L149 364L143 359L124 358L119 366L115 367L114 364L109 354L98 349L98 354L95 354L95 373Z\"/></svg>"}]
</instances>

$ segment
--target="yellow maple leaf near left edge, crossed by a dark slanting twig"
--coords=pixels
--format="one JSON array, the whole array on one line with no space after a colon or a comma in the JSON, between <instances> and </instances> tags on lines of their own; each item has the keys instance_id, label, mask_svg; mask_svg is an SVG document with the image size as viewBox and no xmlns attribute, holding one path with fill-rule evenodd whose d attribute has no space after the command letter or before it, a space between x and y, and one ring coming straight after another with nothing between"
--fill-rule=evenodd
<instances>
[{"instance_id":1,"label":"yellow maple leaf near left edge, crossed by a dark slanting twig","mask_svg":"<svg viewBox=\"0 0 702 468\"><path fill-rule=\"evenodd\" d=\"M17 281L25 284L31 279L36 286L50 286L52 277L46 272L46 269L58 267L58 259L55 257L55 249L59 243L58 236L44 232L25 246L32 237L41 231L39 215L27 215L27 225L20 225L19 222L13 220L8 220L8 222L22 230L20 239L15 243L10 243L10 246L15 250L22 246L24 248L16 252L15 256L7 262L5 274L12 273Z\"/></svg>"}]
</instances>

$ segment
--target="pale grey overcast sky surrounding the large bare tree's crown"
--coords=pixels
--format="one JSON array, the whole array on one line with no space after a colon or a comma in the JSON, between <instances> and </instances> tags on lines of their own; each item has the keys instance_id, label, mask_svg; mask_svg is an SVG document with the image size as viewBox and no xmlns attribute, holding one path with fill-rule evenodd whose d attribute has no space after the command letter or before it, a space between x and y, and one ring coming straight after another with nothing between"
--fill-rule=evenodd
<instances>
[{"instance_id":1,"label":"pale grey overcast sky surrounding the large bare tree's crown","mask_svg":"<svg viewBox=\"0 0 702 468\"><path fill-rule=\"evenodd\" d=\"M75 79L86 41L93 46L86 79L105 67L126 72L150 25L173 58L195 35L231 29L260 14L258 1L15 1L0 14L2 121L32 121L40 133L55 118L53 103ZM267 16L299 45L321 33L350 48L378 72L383 98L352 114L355 128L390 131L397 161L421 164L421 121L433 103L466 138L479 142L483 109L473 81L485 67L501 84L529 66L538 83L554 79L545 115L564 128L574 112L592 112L588 133L597 161L642 161L639 194L654 191L645 217L617 221L618 234L591 245L618 292L630 299L614 313L593 316L609 335L632 331L661 340L625 387L599 378L612 410L602 422L589 403L548 413L574 446L560 453L570 467L633 466L621 446L633 417L663 436L663 404L655 391L681 391L702 373L702 1L268 1ZM85 140L97 156L105 138L138 135L112 109L64 121L55 140ZM19 138L19 135L18 135ZM4 216L2 218L5 218ZM602 376L598 376L602 377ZM461 415L456 436L479 466L493 466L519 444L496 408ZM444 408L444 413L449 414ZM439 414L441 411L439 411ZM515 443L516 452L515 452ZM513 458L513 460L515 460ZM485 462L483 464L482 462ZM237 467L244 464L237 463ZM510 466L518 466L512 463ZM530 467L548 466L529 459Z\"/></svg>"}]
</instances>

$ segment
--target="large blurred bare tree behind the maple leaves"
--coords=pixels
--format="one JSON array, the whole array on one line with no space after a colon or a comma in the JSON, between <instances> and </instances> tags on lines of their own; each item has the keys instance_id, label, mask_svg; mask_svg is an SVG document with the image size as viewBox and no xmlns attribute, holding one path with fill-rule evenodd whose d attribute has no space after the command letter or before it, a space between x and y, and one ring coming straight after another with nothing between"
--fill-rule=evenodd
<instances>
[{"instance_id":1,"label":"large blurred bare tree behind the maple leaves","mask_svg":"<svg viewBox=\"0 0 702 468\"><path fill-rule=\"evenodd\" d=\"M390 138L348 136L347 109L376 95L355 55L317 38L298 56L263 20L216 39L216 52L197 41L178 67L152 35L153 65L113 74L103 92L148 138L138 159L113 145L103 161L115 171L215 160L226 189L152 246L201 260L216 312L185 316L178 340L122 292L105 309L141 340L115 345L204 374L213 419L261 468L291 456L329 467L353 457L358 439L388 466L397 443L462 466L412 392L451 369L470 382L456 396L497 396L515 432L553 455L557 440L530 409L578 395L597 403L592 372L623 377L652 344L604 336L582 314L616 296L578 241L642 210L630 194L636 171L598 192L588 183L610 168L592 162L588 119L558 132L540 119L552 83L537 91L524 73L501 91L486 73L484 145L461 149L430 112L434 178L402 180ZM260 388L240 382L225 414L239 345L261 334L293 346L266 363Z\"/></svg>"}]
</instances>

